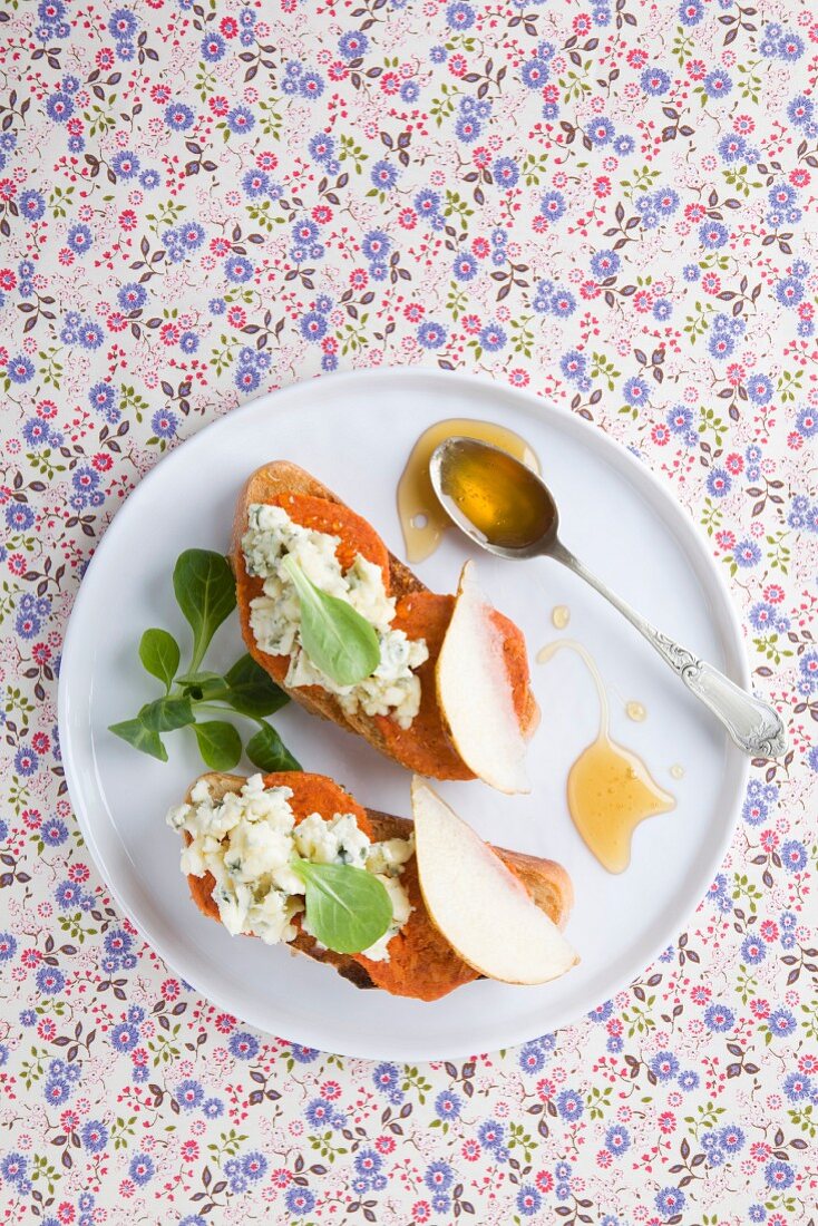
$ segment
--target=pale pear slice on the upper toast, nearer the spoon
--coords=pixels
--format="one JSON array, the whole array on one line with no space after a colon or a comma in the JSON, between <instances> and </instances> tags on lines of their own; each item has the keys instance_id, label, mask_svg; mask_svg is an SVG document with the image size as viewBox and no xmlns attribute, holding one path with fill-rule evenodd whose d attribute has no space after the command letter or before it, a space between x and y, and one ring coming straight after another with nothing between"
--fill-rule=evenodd
<instances>
[{"instance_id":1,"label":"pale pear slice on the upper toast, nearer the spoon","mask_svg":"<svg viewBox=\"0 0 818 1226\"><path fill-rule=\"evenodd\" d=\"M498 792L530 792L503 635L467 562L435 666L438 705L466 766Z\"/></svg>"}]
</instances>

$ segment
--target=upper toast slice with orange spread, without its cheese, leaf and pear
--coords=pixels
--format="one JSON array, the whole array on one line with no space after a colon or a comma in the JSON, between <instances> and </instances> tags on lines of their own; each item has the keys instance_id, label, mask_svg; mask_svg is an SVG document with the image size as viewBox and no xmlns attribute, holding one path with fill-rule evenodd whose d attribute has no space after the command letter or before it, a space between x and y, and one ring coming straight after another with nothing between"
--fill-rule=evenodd
<instances>
[{"instance_id":1,"label":"upper toast slice with orange spread, without its cheese, leaf and pear","mask_svg":"<svg viewBox=\"0 0 818 1226\"><path fill-rule=\"evenodd\" d=\"M368 716L362 712L348 715L341 707L337 698L320 685L302 685L289 688L285 684L288 656L270 656L261 651L250 626L250 602L264 595L264 581L248 574L242 538L248 528L249 508L255 503L278 503L287 509L287 499L320 499L321 505L335 504L338 508L337 522L331 516L313 522L319 531L332 532L345 538L353 532L359 541L359 550L370 560L380 564L388 574L388 590L396 598L396 617L394 625L403 629L410 638L424 638L429 649L429 658L417 669L421 680L421 710L408 729L401 729L389 716ZM354 558L352 557L350 563ZM235 588L242 635L248 651L261 664L273 680L286 689L291 698L313 715L332 720L342 728L357 732L375 749L408 770L433 779L473 779L473 774L462 761L449 739L438 707L434 667L440 651L445 629L451 618L453 597L438 597L417 579L400 558L389 553L383 542L361 516L354 515L341 499L316 481L303 468L286 460L277 460L258 468L248 479L238 500L233 522L232 562L235 574ZM526 734L536 728L540 711L529 685L529 668L525 656L525 644L520 631L502 614L495 614L498 625L506 634L506 658L509 677L514 687L515 706L520 726Z\"/></svg>"}]
</instances>

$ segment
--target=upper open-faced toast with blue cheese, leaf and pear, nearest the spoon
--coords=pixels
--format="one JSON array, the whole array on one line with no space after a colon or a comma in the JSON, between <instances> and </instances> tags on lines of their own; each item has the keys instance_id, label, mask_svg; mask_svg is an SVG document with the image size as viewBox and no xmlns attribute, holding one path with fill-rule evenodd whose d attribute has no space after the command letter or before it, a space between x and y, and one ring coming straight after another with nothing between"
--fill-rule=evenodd
<instances>
[{"instance_id":1,"label":"upper open-faced toast with blue cheese, leaf and pear, nearest the spoon","mask_svg":"<svg viewBox=\"0 0 818 1226\"><path fill-rule=\"evenodd\" d=\"M287 461L247 482L232 562L248 650L293 699L422 775L527 791L538 709L525 640L471 564L456 597L430 592Z\"/></svg>"}]
</instances>

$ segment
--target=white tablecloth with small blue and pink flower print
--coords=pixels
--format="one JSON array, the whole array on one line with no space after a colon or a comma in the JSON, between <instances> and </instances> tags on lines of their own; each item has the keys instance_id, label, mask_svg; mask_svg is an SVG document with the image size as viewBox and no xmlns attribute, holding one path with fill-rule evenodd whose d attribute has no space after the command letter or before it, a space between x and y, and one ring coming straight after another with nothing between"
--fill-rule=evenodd
<instances>
[{"instance_id":1,"label":"white tablecloth with small blue and pink flower print","mask_svg":"<svg viewBox=\"0 0 818 1226\"><path fill-rule=\"evenodd\" d=\"M7 0L0 60L0 1219L806 1221L814 7ZM791 745L638 982L419 1068L197 999L112 906L55 727L83 565L161 454L381 363L530 387L635 450L728 579Z\"/></svg>"}]
</instances>

